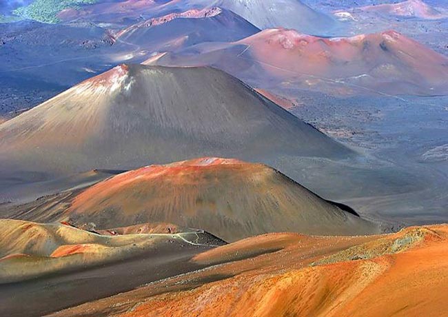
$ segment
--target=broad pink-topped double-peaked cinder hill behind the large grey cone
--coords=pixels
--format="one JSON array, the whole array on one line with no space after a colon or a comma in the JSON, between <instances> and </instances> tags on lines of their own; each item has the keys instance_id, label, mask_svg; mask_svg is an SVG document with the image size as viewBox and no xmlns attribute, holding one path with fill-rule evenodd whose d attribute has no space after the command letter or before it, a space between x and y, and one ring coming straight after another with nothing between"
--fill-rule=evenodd
<instances>
[{"instance_id":1,"label":"broad pink-topped double-peaked cinder hill behind the large grey cone","mask_svg":"<svg viewBox=\"0 0 448 317\"><path fill-rule=\"evenodd\" d=\"M394 31L325 38L269 29L235 43L164 54L151 63L212 65L261 88L275 80L325 92L431 95L448 88L447 57Z\"/></svg>"}]
</instances>

